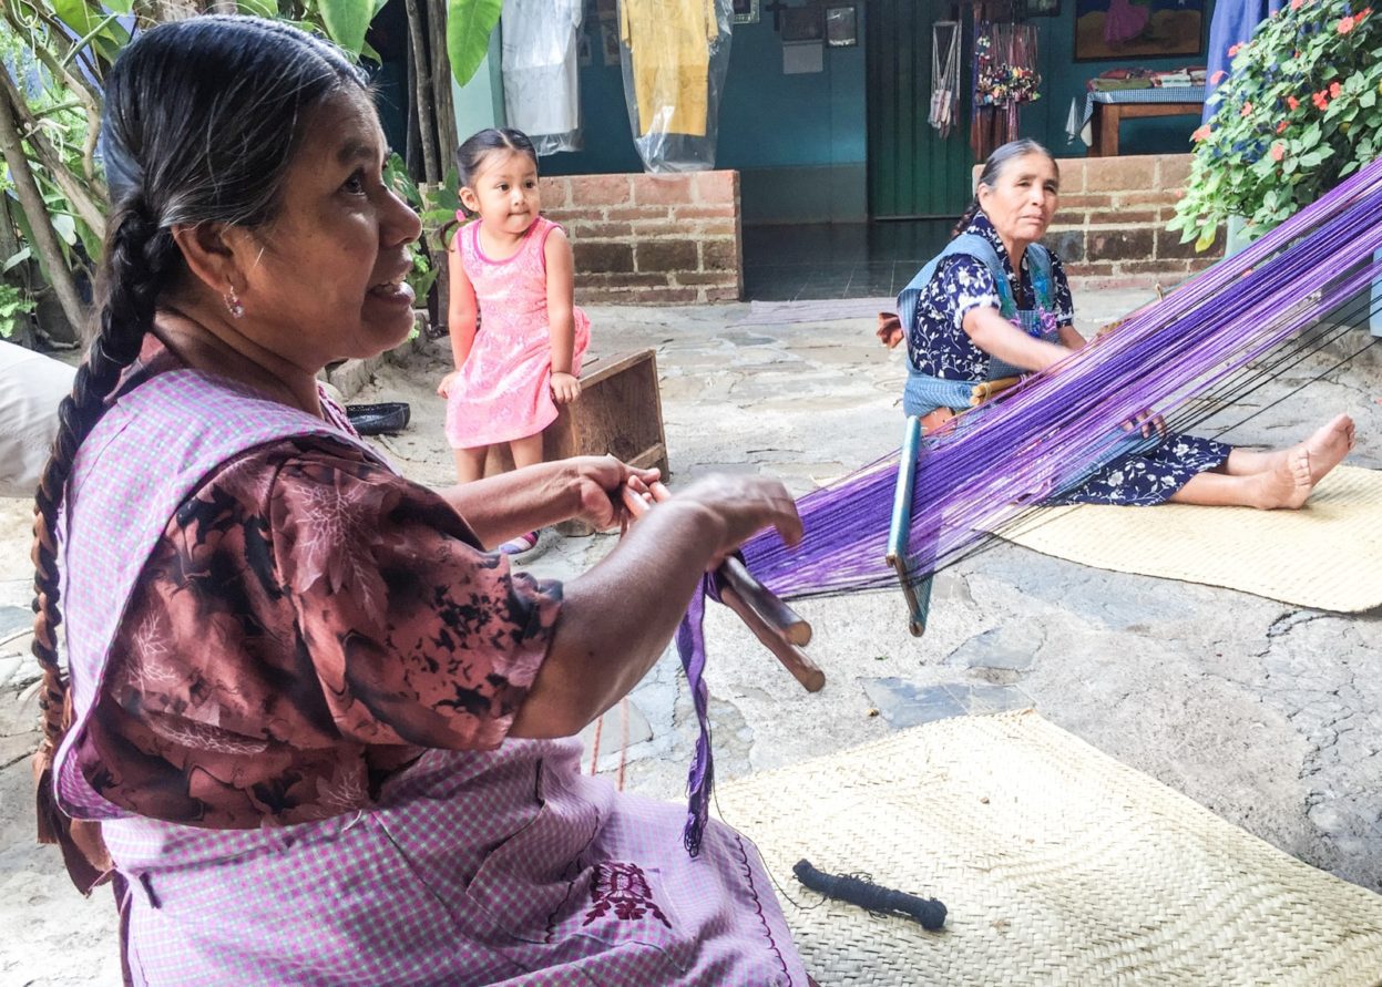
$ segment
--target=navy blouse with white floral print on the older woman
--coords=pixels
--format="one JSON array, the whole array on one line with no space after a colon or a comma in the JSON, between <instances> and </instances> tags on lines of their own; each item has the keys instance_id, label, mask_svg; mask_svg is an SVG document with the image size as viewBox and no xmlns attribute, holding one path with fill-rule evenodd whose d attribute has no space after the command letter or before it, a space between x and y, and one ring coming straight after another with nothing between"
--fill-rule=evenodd
<instances>
[{"instance_id":1,"label":"navy blouse with white floral print on the older woman","mask_svg":"<svg viewBox=\"0 0 1382 987\"><path fill-rule=\"evenodd\" d=\"M1031 283L1031 262L1023 257L1021 277L1013 273L1012 260L1003 247L998 231L988 217L980 213L965 229L994 244L1017 308L1035 308L1036 298ZM1075 320L1075 305L1070 297L1070 282L1060 258L1052 254L1052 315L1057 326L1070 326ZM981 381L988 375L990 356L976 346L963 330L965 316L976 308L1001 308L998 286L988 265L977 257L959 254L941 261L931 283L922 291L916 302L916 319L907 327L907 355L919 373L948 381Z\"/></svg>"}]
</instances>

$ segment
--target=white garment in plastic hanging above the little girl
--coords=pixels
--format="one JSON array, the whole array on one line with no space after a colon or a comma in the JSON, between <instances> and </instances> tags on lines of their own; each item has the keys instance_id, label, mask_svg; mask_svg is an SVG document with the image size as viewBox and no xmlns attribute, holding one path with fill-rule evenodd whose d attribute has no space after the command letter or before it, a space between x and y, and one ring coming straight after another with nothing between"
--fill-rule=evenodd
<instances>
[{"instance_id":1,"label":"white garment in plastic hanging above the little girl","mask_svg":"<svg viewBox=\"0 0 1382 987\"><path fill-rule=\"evenodd\" d=\"M576 47L585 0L504 0L504 115L539 155L580 150Z\"/></svg>"}]
</instances>

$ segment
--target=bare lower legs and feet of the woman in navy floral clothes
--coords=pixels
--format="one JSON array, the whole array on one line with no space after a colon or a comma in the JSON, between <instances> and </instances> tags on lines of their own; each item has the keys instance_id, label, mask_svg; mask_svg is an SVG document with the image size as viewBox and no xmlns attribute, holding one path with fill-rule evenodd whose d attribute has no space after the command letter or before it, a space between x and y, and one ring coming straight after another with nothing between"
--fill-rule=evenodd
<instances>
[{"instance_id":1,"label":"bare lower legs and feet of the woman in navy floral clothes","mask_svg":"<svg viewBox=\"0 0 1382 987\"><path fill-rule=\"evenodd\" d=\"M1252 453L1236 449L1222 472L1191 478L1172 497L1172 504L1206 507L1298 508L1314 485L1353 449L1353 420L1341 414L1291 449Z\"/></svg>"}]
</instances>

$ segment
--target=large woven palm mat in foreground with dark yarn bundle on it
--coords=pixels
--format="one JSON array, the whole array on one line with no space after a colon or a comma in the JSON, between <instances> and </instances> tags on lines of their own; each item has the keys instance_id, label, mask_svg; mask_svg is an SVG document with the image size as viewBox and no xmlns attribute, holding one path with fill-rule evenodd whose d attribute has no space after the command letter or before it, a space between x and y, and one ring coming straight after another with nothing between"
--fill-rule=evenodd
<instances>
[{"instance_id":1,"label":"large woven palm mat in foreground with dark yarn bundle on it","mask_svg":"<svg viewBox=\"0 0 1382 987\"><path fill-rule=\"evenodd\" d=\"M1382 896L1030 710L927 723L726 784L717 801L786 892L822 987L1382 977ZM822 899L792 875L803 857L940 899L944 930Z\"/></svg>"}]
</instances>

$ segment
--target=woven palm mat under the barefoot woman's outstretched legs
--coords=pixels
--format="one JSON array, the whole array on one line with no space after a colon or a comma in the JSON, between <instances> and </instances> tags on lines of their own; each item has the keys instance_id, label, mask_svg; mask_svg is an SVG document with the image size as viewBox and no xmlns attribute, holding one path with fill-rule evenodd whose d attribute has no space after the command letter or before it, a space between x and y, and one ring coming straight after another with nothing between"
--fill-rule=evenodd
<instances>
[{"instance_id":1,"label":"woven palm mat under the barefoot woman's outstretched legs","mask_svg":"<svg viewBox=\"0 0 1382 987\"><path fill-rule=\"evenodd\" d=\"M1382 606L1382 471L1338 467L1299 511L1043 508L999 534L1096 569L1229 587L1336 613Z\"/></svg>"}]
</instances>

